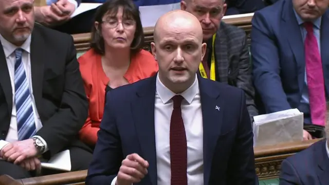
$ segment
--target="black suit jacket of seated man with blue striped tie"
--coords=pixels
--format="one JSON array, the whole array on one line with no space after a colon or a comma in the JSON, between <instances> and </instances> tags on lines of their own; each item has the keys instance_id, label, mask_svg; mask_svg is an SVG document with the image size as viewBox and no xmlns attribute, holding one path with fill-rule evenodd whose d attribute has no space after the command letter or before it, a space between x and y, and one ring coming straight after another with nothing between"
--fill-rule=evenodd
<instances>
[{"instance_id":1,"label":"black suit jacket of seated man with blue striped tie","mask_svg":"<svg viewBox=\"0 0 329 185\"><path fill-rule=\"evenodd\" d=\"M35 24L30 47L33 95L43 125L36 135L47 142L52 156L75 140L87 118L88 102L70 35ZM2 140L9 130L12 98L7 62L0 44Z\"/></svg>"}]
</instances>

